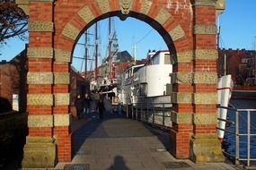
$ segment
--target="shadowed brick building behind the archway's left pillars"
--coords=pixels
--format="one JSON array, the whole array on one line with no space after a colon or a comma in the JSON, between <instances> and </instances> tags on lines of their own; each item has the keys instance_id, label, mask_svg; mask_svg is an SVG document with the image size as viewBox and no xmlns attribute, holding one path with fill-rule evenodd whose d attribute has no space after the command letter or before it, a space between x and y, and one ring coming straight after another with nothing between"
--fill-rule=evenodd
<instances>
[{"instance_id":1,"label":"shadowed brick building behind the archway's left pillars","mask_svg":"<svg viewBox=\"0 0 256 170\"><path fill-rule=\"evenodd\" d=\"M16 55L11 61L0 62L0 97L8 99L9 103L13 103L13 94L19 95L19 111L27 112L27 47ZM75 97L77 94L84 95L89 92L89 81L86 81L80 73L71 68L71 113L76 117Z\"/></svg>"}]
</instances>

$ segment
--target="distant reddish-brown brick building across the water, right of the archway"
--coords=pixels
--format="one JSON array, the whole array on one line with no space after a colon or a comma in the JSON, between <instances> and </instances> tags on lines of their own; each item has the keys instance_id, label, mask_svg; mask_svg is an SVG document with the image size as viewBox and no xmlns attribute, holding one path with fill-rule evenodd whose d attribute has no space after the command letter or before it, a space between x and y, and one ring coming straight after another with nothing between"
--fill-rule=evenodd
<instances>
[{"instance_id":1,"label":"distant reddish-brown brick building across the water, right of the archway","mask_svg":"<svg viewBox=\"0 0 256 170\"><path fill-rule=\"evenodd\" d=\"M218 75L231 74L235 86L255 86L255 51L220 49Z\"/></svg>"}]
</instances>

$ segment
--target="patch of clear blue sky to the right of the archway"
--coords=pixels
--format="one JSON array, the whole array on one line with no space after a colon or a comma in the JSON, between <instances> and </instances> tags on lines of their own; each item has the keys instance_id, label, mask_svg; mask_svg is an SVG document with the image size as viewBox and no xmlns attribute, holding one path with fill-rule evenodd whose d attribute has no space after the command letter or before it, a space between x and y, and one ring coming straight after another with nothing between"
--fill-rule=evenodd
<instances>
[{"instance_id":1,"label":"patch of clear blue sky to the right of the archway","mask_svg":"<svg viewBox=\"0 0 256 170\"><path fill-rule=\"evenodd\" d=\"M256 0L225 0L219 22L221 47L255 50Z\"/></svg>"}]
</instances>

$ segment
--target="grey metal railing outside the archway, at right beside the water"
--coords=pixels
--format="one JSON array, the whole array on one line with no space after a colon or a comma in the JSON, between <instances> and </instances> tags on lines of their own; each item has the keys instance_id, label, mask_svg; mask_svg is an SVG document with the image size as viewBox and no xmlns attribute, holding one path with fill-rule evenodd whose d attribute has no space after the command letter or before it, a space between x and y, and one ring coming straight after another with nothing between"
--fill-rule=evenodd
<instances>
[{"instance_id":1,"label":"grey metal railing outside the archway, at right beside the water","mask_svg":"<svg viewBox=\"0 0 256 170\"><path fill-rule=\"evenodd\" d=\"M235 139L234 139L234 143L235 143L234 156L232 156L232 154L227 153L227 152L225 152L225 154L229 155L230 157L234 157L235 166L240 165L241 161L245 161L246 166L251 166L251 161L256 161L256 158L251 157L251 149L252 149L251 148L251 137L256 136L256 133L252 133L252 128L251 127L253 127L255 130L256 130L256 127L252 124L251 118L252 118L252 112L254 112L253 114L256 114L256 109L236 109L236 108L233 108L233 107L225 107L225 106L217 106L217 107L227 109L227 110L230 110L230 111L234 111L234 121L218 118L219 121L225 121L226 123L231 123L232 125L235 125L234 132L231 132L229 130L221 129L221 128L217 127L218 130L234 134L234 136L235 136ZM230 113L233 113L233 112L230 112ZM246 113L246 117L247 117L246 120L243 118L244 113ZM240 127L240 118L243 119L243 121L247 123L246 127L244 126L244 128L246 128L246 129L243 129L242 127ZM231 128L229 128L229 129L231 129ZM241 131L243 131L243 132L241 132ZM246 143L247 143L246 157L241 157L240 156L240 137L243 137L243 136L247 137L247 140L246 140ZM256 145L254 145L254 146L256 147Z\"/></svg>"}]
</instances>

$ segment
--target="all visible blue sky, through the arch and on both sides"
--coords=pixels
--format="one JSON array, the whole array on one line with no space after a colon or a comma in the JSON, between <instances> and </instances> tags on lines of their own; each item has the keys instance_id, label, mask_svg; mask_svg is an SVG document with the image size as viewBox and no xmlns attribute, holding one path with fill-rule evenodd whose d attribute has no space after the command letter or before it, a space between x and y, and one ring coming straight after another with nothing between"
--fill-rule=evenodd
<instances>
[{"instance_id":1,"label":"all visible blue sky, through the arch and on both sides","mask_svg":"<svg viewBox=\"0 0 256 170\"><path fill-rule=\"evenodd\" d=\"M256 0L225 0L225 13L219 17L221 26L220 47L254 49L256 36ZM106 55L108 20L100 21L101 57ZM144 58L148 49L166 49L163 38L144 21L128 18L126 21L114 19L114 28L119 38L119 49L128 50L133 55L134 42L137 42L137 58ZM92 26L91 32L94 28ZM147 36L146 36L147 35ZM93 44L93 37L90 37ZM82 42L82 41L81 41ZM0 45L0 60L9 61L19 54L25 47L25 42L11 38L6 45ZM83 55L84 49L77 47L75 55ZM93 51L91 50L91 55ZM83 67L81 60L73 61L80 70ZM90 68L90 65L88 65Z\"/></svg>"}]
</instances>

